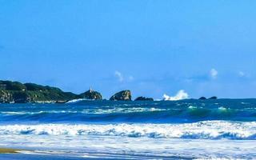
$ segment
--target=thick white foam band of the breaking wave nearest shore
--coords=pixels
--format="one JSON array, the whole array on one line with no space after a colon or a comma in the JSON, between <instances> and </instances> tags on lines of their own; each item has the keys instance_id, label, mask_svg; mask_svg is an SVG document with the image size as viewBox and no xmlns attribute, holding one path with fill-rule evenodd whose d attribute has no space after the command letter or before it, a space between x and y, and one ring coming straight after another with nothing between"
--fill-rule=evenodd
<instances>
[{"instance_id":1,"label":"thick white foam band of the breaking wave nearest shore","mask_svg":"<svg viewBox=\"0 0 256 160\"><path fill-rule=\"evenodd\" d=\"M0 126L1 134L255 140L256 122L205 121L185 124L8 125Z\"/></svg>"}]
</instances>

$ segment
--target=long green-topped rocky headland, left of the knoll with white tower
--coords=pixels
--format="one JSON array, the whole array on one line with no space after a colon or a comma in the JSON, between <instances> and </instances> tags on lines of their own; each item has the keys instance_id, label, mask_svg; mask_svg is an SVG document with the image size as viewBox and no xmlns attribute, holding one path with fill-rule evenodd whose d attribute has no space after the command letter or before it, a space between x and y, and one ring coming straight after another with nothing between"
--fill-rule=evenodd
<instances>
[{"instance_id":1,"label":"long green-topped rocky headland, left of the knoll with white tower","mask_svg":"<svg viewBox=\"0 0 256 160\"><path fill-rule=\"evenodd\" d=\"M0 102L57 102L69 101L74 98L79 98L79 96L70 92L63 92L56 87L0 81Z\"/></svg>"}]
</instances>

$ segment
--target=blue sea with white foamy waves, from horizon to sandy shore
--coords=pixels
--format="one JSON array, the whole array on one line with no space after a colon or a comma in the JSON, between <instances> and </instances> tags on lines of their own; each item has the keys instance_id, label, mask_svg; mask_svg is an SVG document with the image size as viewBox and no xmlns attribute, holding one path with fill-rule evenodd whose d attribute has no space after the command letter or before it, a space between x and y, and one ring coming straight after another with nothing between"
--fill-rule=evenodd
<instances>
[{"instance_id":1,"label":"blue sea with white foamy waves, from horizon to sandy shore","mask_svg":"<svg viewBox=\"0 0 256 160\"><path fill-rule=\"evenodd\" d=\"M256 158L256 99L0 104L0 159Z\"/></svg>"}]
</instances>

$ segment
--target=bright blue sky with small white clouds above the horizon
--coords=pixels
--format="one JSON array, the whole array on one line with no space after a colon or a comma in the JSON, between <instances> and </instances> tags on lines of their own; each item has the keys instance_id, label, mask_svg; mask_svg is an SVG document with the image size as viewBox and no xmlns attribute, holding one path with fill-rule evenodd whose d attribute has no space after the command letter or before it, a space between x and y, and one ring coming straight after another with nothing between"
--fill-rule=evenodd
<instances>
[{"instance_id":1,"label":"bright blue sky with small white clouds above the horizon","mask_svg":"<svg viewBox=\"0 0 256 160\"><path fill-rule=\"evenodd\" d=\"M256 98L256 1L0 0L0 79Z\"/></svg>"}]
</instances>

